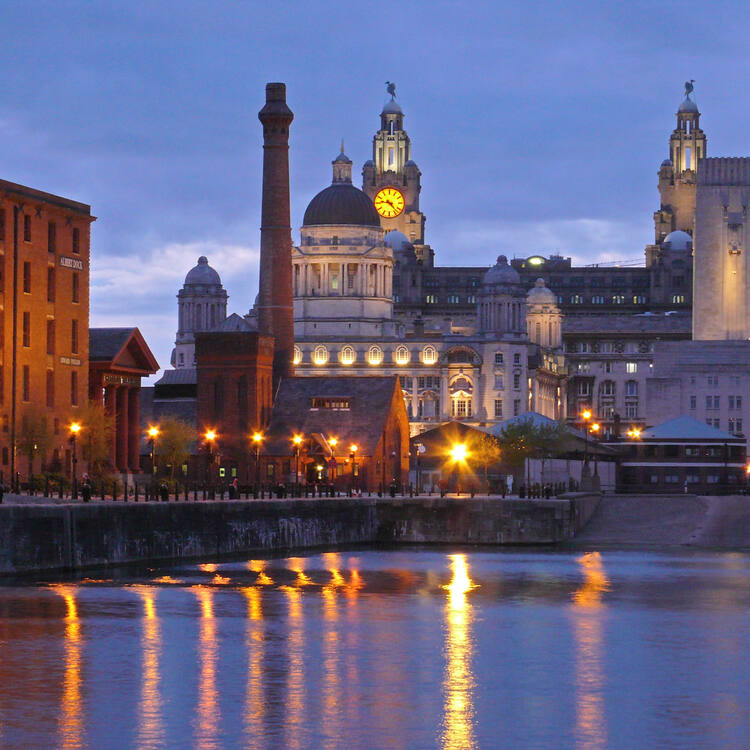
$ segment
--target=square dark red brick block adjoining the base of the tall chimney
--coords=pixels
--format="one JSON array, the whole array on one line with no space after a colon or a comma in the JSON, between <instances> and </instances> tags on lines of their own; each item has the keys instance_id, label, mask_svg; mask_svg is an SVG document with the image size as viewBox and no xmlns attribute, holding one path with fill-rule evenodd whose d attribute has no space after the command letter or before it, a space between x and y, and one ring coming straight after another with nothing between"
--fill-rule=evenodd
<instances>
[{"instance_id":1,"label":"square dark red brick block adjoining the base of the tall chimney","mask_svg":"<svg viewBox=\"0 0 750 750\"><path fill-rule=\"evenodd\" d=\"M226 477L248 476L251 435L271 416L273 358L273 338L252 330L236 314L195 335L199 441L208 463L203 436L208 430L216 433L212 459Z\"/></svg>"}]
</instances>

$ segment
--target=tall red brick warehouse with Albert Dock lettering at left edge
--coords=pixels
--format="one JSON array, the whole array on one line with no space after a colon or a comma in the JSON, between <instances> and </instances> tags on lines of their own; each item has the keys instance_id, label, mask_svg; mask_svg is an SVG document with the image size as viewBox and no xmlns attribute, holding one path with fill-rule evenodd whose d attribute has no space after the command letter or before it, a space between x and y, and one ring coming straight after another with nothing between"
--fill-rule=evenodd
<instances>
[{"instance_id":1,"label":"tall red brick warehouse with Albert Dock lettering at left edge","mask_svg":"<svg viewBox=\"0 0 750 750\"><path fill-rule=\"evenodd\" d=\"M44 407L51 468L70 465L68 424L86 404L91 207L0 180L0 469L28 473L14 451L24 413ZM15 280L15 283L14 283ZM38 468L38 467L37 467Z\"/></svg>"}]
</instances>

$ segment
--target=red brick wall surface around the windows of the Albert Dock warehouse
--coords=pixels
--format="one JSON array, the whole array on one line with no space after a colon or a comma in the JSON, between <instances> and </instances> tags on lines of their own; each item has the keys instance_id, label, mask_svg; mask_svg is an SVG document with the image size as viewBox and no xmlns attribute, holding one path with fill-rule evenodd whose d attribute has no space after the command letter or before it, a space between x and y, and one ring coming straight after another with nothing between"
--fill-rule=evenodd
<instances>
[{"instance_id":1,"label":"red brick wall surface around the windows of the Albert Dock warehouse","mask_svg":"<svg viewBox=\"0 0 750 750\"><path fill-rule=\"evenodd\" d=\"M65 465L69 450L68 424L86 405L88 398L88 329L90 226L94 218L88 206L57 198L0 180L0 214L4 232L0 236L0 292L4 311L0 312L2 335L2 403L0 403L0 468L8 476L10 468L10 420L13 343L13 206L22 205L18 216L18 334L17 334L17 416L20 434L24 410L41 407L50 427L57 424L54 448ZM29 217L31 239L24 239L24 216ZM55 246L50 248L49 223L55 225ZM73 230L79 234L78 252L73 252ZM61 265L61 261L63 265ZM30 289L24 291L24 263L30 264ZM67 265L66 265L67 264ZM69 265L82 265L74 270ZM54 269L54 301L48 301L48 269ZM78 302L73 301L73 275L78 274ZM23 346L23 313L29 313L29 346ZM54 353L47 353L47 321L55 321ZM78 321L78 351L71 347L71 321ZM29 399L23 400L23 368L29 368ZM54 405L47 405L47 372L54 373ZM78 375L78 404L71 403L71 373ZM6 429L7 428L7 429ZM45 460L50 459L50 455ZM28 473L26 459L17 452L17 471ZM40 470L39 458L34 471ZM79 472L85 466L79 460Z\"/></svg>"}]
</instances>

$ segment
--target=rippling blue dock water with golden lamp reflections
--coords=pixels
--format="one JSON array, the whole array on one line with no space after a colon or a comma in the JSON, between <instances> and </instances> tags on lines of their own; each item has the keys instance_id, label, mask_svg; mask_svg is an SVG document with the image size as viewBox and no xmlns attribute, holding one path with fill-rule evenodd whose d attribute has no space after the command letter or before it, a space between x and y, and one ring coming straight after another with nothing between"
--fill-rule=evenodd
<instances>
[{"instance_id":1,"label":"rippling blue dock water with golden lamp reflections","mask_svg":"<svg viewBox=\"0 0 750 750\"><path fill-rule=\"evenodd\" d=\"M750 557L345 551L0 588L0 746L739 748Z\"/></svg>"}]
</instances>

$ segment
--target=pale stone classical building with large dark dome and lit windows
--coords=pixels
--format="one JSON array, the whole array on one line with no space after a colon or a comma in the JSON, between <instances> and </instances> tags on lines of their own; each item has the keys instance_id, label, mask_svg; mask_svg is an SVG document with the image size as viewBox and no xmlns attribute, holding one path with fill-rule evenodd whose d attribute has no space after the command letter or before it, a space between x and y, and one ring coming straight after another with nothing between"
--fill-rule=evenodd
<instances>
[{"instance_id":1,"label":"pale stone classical building with large dark dome and lit windows","mask_svg":"<svg viewBox=\"0 0 750 750\"><path fill-rule=\"evenodd\" d=\"M292 254L298 376L397 374L413 433L447 419L486 425L530 410L564 416L560 312L544 282L527 302L501 256L478 290L475 329L457 331L446 320L417 322L407 333L393 318L394 255L418 262L402 232L384 236L372 200L351 183L351 161L339 154Z\"/></svg>"}]
</instances>

